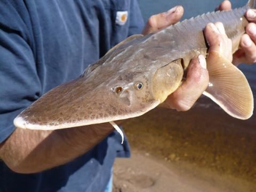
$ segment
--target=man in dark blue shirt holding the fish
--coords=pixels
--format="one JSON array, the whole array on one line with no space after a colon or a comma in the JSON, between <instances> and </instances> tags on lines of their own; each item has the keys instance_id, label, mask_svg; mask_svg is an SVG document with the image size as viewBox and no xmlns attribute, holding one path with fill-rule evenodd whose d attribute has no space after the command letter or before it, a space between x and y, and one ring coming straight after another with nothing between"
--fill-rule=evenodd
<instances>
[{"instance_id":1,"label":"man in dark blue shirt holding the fish","mask_svg":"<svg viewBox=\"0 0 256 192\"><path fill-rule=\"evenodd\" d=\"M219 9L230 10L230 2ZM142 34L173 25L182 14L177 6L153 15ZM81 75L112 46L139 34L143 21L137 1L4 0L0 15L0 191L111 191L114 159L129 157L130 150L109 123L41 131L14 127L12 121L45 92ZM245 16L250 23L233 55L221 23L205 28L209 50L235 65L256 61L256 10ZM199 55L163 105L189 110L208 84L206 60Z\"/></svg>"}]
</instances>

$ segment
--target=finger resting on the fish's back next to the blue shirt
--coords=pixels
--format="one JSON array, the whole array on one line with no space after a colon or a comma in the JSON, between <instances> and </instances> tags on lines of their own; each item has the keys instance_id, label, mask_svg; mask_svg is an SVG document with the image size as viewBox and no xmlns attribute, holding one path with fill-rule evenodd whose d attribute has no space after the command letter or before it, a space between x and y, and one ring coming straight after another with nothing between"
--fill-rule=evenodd
<instances>
[{"instance_id":1,"label":"finger resting on the fish's back next to the blue shirt","mask_svg":"<svg viewBox=\"0 0 256 192\"><path fill-rule=\"evenodd\" d=\"M167 12L152 15L146 24L142 34L153 33L159 29L173 25L178 22L183 15L183 7L175 6Z\"/></svg>"}]
</instances>

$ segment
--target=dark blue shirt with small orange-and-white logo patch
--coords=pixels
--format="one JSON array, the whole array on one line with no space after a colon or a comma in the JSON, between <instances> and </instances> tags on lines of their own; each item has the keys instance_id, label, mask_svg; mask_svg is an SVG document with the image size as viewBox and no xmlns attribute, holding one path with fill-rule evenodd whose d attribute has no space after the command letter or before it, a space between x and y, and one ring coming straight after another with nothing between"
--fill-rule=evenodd
<instances>
[{"instance_id":1,"label":"dark blue shirt with small orange-and-white logo patch","mask_svg":"<svg viewBox=\"0 0 256 192\"><path fill-rule=\"evenodd\" d=\"M117 11L128 11L125 25L116 24ZM1 0L0 143L23 109L142 27L136 0ZM129 145L113 132L74 161L41 173L14 173L0 162L0 191L102 191L116 156L129 156Z\"/></svg>"}]
</instances>

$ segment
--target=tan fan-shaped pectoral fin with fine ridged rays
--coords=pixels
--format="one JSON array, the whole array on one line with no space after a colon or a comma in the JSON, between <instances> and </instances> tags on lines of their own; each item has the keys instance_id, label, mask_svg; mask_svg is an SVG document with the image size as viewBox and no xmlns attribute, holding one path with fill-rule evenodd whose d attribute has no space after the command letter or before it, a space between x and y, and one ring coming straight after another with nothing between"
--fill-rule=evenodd
<instances>
[{"instance_id":1,"label":"tan fan-shaped pectoral fin with fine ridged rays","mask_svg":"<svg viewBox=\"0 0 256 192\"><path fill-rule=\"evenodd\" d=\"M218 52L207 58L210 83L204 95L211 98L229 115L248 119L253 113L253 95L242 71Z\"/></svg>"}]
</instances>

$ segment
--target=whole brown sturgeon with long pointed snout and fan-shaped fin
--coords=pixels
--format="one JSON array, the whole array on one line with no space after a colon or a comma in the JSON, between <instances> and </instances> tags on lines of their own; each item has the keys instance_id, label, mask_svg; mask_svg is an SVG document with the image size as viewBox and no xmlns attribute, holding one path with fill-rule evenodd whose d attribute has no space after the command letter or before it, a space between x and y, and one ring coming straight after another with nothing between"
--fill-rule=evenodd
<instances>
[{"instance_id":1,"label":"whole brown sturgeon with long pointed snout and fan-shaped fin","mask_svg":"<svg viewBox=\"0 0 256 192\"><path fill-rule=\"evenodd\" d=\"M114 46L78 78L59 85L23 110L14 125L22 129L57 130L141 116L163 103L182 83L192 58L209 54L203 30L222 22L239 48L245 12L255 0L231 11L209 12L149 35L133 35ZM218 52L207 63L210 83L204 94L229 115L248 119L253 94L246 77Z\"/></svg>"}]
</instances>

